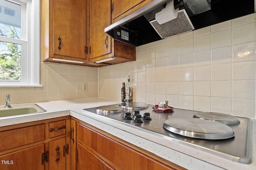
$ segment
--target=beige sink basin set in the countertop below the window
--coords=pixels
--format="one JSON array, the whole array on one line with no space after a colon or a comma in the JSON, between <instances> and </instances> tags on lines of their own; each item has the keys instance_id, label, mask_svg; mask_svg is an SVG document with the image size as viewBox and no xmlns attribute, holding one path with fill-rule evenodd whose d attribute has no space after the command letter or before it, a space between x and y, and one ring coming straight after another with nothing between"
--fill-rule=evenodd
<instances>
[{"instance_id":1,"label":"beige sink basin set in the countertop below the window","mask_svg":"<svg viewBox=\"0 0 256 170\"><path fill-rule=\"evenodd\" d=\"M0 108L0 117L24 115L29 113L42 113L46 110L37 104L12 105L10 108Z\"/></svg>"}]
</instances>

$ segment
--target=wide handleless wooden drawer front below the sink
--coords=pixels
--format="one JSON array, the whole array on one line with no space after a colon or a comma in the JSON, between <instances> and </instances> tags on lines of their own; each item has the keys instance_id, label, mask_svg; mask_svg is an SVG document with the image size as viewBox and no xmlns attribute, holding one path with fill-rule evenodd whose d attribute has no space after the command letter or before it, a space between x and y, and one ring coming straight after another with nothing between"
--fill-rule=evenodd
<instances>
[{"instance_id":1,"label":"wide handleless wooden drawer front below the sink","mask_svg":"<svg viewBox=\"0 0 256 170\"><path fill-rule=\"evenodd\" d=\"M44 124L0 132L0 151L43 141Z\"/></svg>"}]
</instances>

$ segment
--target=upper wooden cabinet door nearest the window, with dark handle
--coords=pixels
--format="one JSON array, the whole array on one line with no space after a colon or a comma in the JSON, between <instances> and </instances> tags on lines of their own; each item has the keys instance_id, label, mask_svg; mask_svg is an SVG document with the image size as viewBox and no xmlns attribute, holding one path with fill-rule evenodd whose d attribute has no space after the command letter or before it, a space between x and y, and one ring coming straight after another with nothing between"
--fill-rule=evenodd
<instances>
[{"instance_id":1,"label":"upper wooden cabinet door nearest the window, with dark handle","mask_svg":"<svg viewBox=\"0 0 256 170\"><path fill-rule=\"evenodd\" d=\"M52 0L53 53L86 59L86 0Z\"/></svg>"}]
</instances>

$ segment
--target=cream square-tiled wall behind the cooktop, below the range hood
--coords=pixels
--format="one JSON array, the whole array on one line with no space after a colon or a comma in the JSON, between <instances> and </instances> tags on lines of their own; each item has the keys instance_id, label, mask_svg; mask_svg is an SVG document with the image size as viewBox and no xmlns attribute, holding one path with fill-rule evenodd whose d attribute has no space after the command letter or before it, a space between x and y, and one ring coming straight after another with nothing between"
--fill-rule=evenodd
<instances>
[{"instance_id":1,"label":"cream square-tiled wall behind the cooktop, below the range hood","mask_svg":"<svg viewBox=\"0 0 256 170\"><path fill-rule=\"evenodd\" d=\"M137 47L136 62L99 68L98 96L255 117L256 14Z\"/></svg>"}]
</instances>

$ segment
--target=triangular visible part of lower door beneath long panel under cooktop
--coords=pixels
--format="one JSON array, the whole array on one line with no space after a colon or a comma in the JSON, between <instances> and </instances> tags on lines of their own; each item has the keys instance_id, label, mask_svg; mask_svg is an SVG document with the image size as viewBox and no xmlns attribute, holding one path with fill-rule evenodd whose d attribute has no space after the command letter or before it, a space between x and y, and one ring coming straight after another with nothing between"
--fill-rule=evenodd
<instances>
[{"instance_id":1,"label":"triangular visible part of lower door beneath long panel under cooktop","mask_svg":"<svg viewBox=\"0 0 256 170\"><path fill-rule=\"evenodd\" d=\"M78 170L114 170L79 142L77 143L77 150Z\"/></svg>"}]
</instances>

